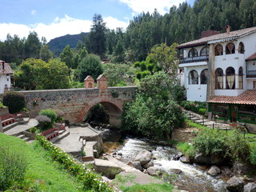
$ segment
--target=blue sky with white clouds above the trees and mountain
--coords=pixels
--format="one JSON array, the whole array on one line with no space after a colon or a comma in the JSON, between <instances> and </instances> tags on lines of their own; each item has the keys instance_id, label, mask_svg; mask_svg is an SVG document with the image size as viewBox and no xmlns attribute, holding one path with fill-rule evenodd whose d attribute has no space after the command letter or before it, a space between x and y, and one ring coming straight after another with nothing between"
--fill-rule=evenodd
<instances>
[{"instance_id":1,"label":"blue sky with white clouds above the trees and mountain","mask_svg":"<svg viewBox=\"0 0 256 192\"><path fill-rule=\"evenodd\" d=\"M101 14L106 27L124 30L143 11L169 12L185 0L0 0L0 41L6 35L27 38L35 31L47 42L66 34L90 32L94 14ZM194 0L186 0L190 4Z\"/></svg>"}]
</instances>

